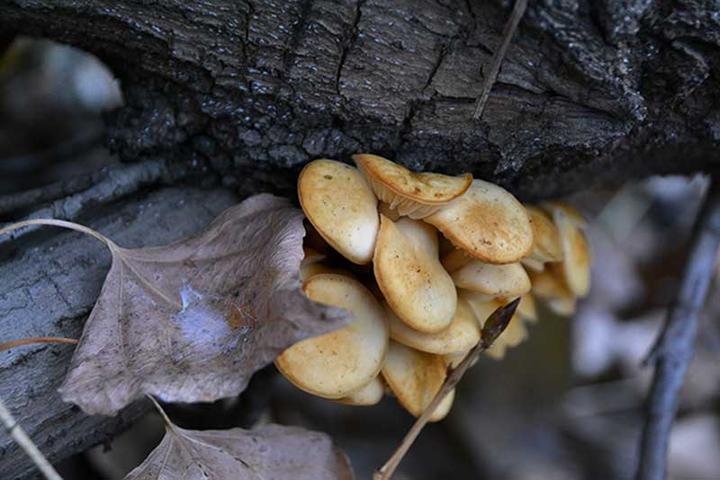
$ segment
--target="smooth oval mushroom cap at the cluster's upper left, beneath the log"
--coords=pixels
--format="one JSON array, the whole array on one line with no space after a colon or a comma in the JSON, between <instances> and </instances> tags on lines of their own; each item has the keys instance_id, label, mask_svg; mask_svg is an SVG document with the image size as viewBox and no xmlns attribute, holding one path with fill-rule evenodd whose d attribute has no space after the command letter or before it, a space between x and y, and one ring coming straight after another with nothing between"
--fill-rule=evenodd
<instances>
[{"instance_id":1,"label":"smooth oval mushroom cap at the cluster's upper left, beneath the log","mask_svg":"<svg viewBox=\"0 0 720 480\"><path fill-rule=\"evenodd\" d=\"M338 253L358 264L373 259L377 199L356 168L315 160L300 173L298 197L312 226Z\"/></svg>"}]
</instances>

